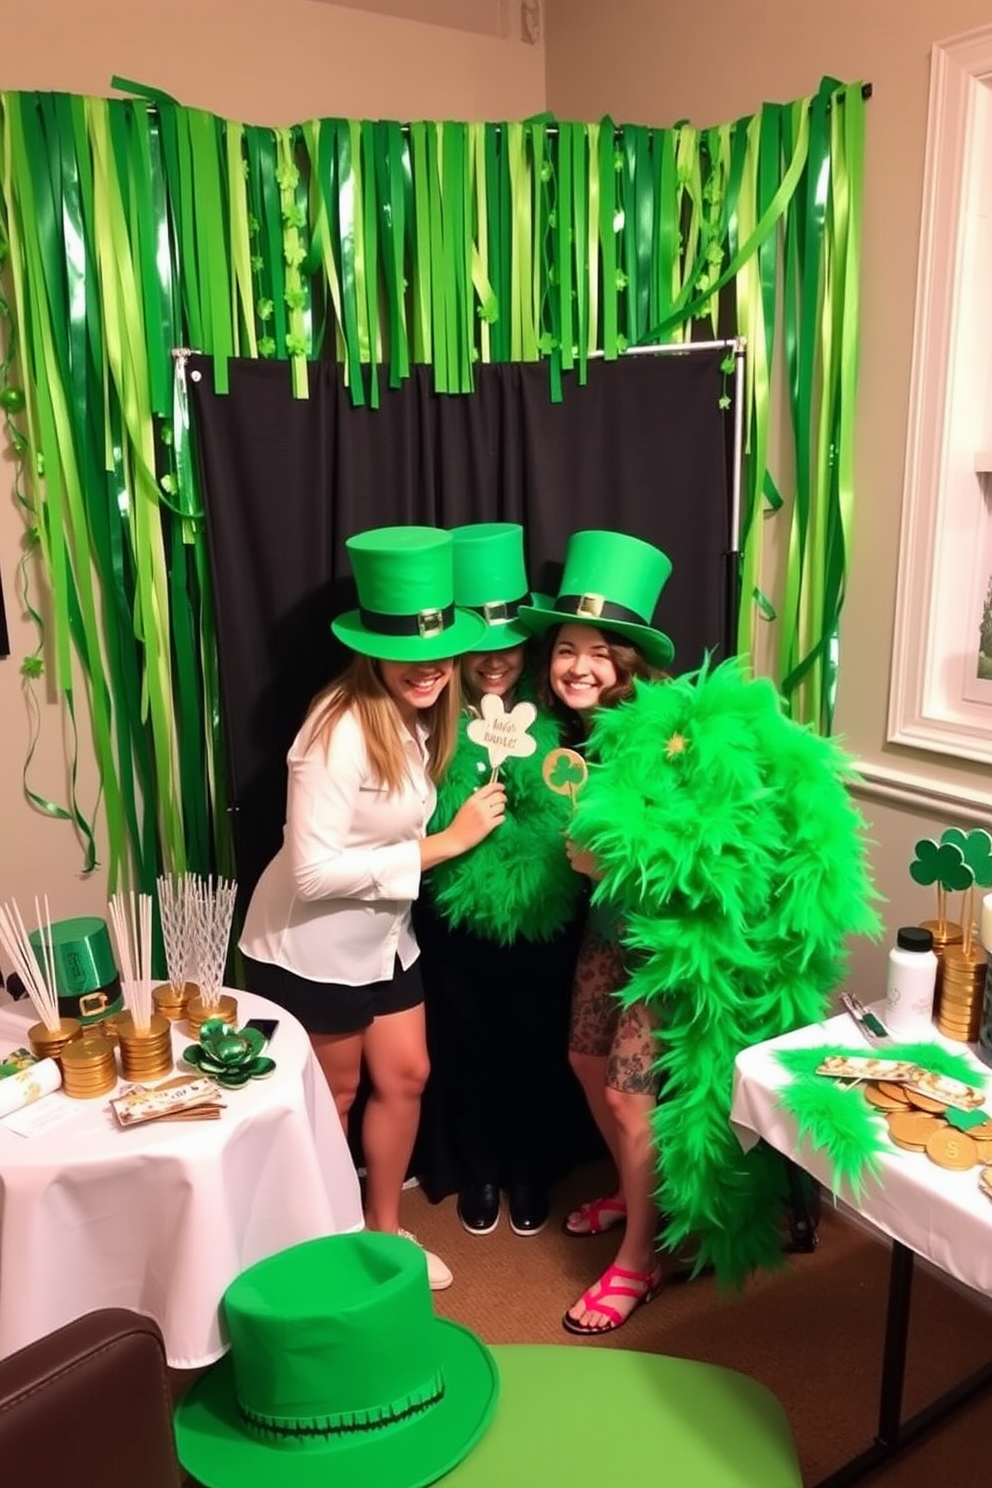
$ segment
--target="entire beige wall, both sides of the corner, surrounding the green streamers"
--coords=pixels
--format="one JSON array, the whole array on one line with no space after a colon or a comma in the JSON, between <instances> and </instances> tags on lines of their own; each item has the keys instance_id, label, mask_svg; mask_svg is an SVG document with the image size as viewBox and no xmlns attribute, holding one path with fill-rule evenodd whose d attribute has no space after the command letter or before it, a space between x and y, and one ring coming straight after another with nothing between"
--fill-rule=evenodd
<instances>
[{"instance_id":1,"label":"entire beige wall, both sides of the corner, surrounding the green streamers","mask_svg":"<svg viewBox=\"0 0 992 1488\"><path fill-rule=\"evenodd\" d=\"M485 27L492 0L461 0L466 27ZM378 0L376 0L378 4ZM421 13L439 15L436 0ZM409 13L410 6L405 10ZM921 891L906 873L912 842L955 820L955 795L989 795L988 774L946 757L885 744L895 561L909 399L918 216L927 119L928 58L935 40L988 24L983 0L794 0L689 7L656 0L546 0L544 46L504 36L421 25L312 0L0 0L0 88L107 92L112 73L149 82L186 104L257 122L308 115L391 118L559 116L669 124L723 122L764 98L811 92L824 73L867 79L863 360L858 409L858 506L851 591L843 620L839 726L869 766L906 775L912 790L947 793L918 809L869 796L875 865L889 899L889 926L921 918ZM898 15L898 19L895 19ZM544 76L546 67L546 76ZM21 524L0 464L0 573L15 656L0 662L0 900L48 890L59 914L98 912L100 875L79 879L70 829L22 801L27 717L19 658L33 632L18 620L13 565ZM64 796L58 711L48 707L33 784ZM83 743L83 802L97 783ZM857 952L870 990L883 948Z\"/></svg>"}]
</instances>

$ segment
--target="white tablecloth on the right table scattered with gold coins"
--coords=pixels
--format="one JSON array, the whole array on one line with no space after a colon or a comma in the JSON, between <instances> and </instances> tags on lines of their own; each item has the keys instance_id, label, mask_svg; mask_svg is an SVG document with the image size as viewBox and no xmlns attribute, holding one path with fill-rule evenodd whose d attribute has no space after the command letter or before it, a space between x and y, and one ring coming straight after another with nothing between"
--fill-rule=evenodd
<instances>
[{"instance_id":1,"label":"white tablecloth on the right table scattered with gold coins","mask_svg":"<svg viewBox=\"0 0 992 1488\"><path fill-rule=\"evenodd\" d=\"M947 1043L935 1030L934 1042L971 1058L974 1083L989 1091L986 1106L992 1115L989 1067L967 1046ZM745 1150L763 1137L833 1189L828 1158L821 1149L799 1143L796 1122L779 1104L779 1092L790 1076L775 1058L778 1049L812 1049L819 1045L849 1045L855 1054L875 1052L879 1058L885 1054L883 1049L869 1048L846 1013L754 1045L736 1059L730 1122ZM864 1098L857 1091L851 1094ZM889 1144L880 1158L880 1177L866 1177L857 1198L849 1192L842 1192L840 1198L892 1240L933 1260L965 1286L992 1296L992 1202L980 1192L977 1176L977 1168L950 1173L922 1152L904 1152Z\"/></svg>"}]
</instances>

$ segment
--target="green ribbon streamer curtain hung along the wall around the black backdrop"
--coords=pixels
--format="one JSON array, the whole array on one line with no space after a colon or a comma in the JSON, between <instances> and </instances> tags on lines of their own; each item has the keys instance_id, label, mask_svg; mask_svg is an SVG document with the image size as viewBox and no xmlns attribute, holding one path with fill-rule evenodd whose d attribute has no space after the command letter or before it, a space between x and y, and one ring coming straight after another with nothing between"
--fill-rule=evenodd
<instances>
[{"instance_id":1,"label":"green ribbon streamer curtain hung along the wall around the black backdrop","mask_svg":"<svg viewBox=\"0 0 992 1488\"><path fill-rule=\"evenodd\" d=\"M864 91L818 92L696 129L558 122L311 119L263 128L134 97L0 94L0 409L25 516L22 604L68 720L97 753L112 888L231 872L217 650L190 446L184 348L306 366L351 397L433 366L470 393L476 362L535 362L549 396L590 356L747 342L739 646L778 626L796 717L830 729L849 548ZM730 329L727 329L730 327ZM781 347L793 469L773 476ZM727 382L735 357L724 365ZM686 496L686 498L690 498ZM781 592L767 518L787 525ZM30 601L40 554L51 606ZM48 631L45 629L48 623Z\"/></svg>"}]
</instances>

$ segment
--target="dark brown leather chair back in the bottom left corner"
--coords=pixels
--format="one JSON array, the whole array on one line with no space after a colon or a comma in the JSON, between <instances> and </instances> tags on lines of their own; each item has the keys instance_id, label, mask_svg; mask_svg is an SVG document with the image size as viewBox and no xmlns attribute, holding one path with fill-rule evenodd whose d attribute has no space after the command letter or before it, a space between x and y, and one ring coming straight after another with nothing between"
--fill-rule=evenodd
<instances>
[{"instance_id":1,"label":"dark brown leather chair back in the bottom left corner","mask_svg":"<svg viewBox=\"0 0 992 1488\"><path fill-rule=\"evenodd\" d=\"M0 1476L71 1488L181 1488L165 1345L106 1308L0 1359Z\"/></svg>"}]
</instances>

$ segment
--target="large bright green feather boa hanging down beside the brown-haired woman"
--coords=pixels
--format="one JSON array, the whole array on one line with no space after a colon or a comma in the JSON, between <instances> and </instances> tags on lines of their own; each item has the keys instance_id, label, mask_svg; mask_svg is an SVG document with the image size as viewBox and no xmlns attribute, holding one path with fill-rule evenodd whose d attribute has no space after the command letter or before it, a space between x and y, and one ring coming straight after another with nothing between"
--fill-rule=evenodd
<instances>
[{"instance_id":1,"label":"large bright green feather boa hanging down beside the brown-haired woman","mask_svg":"<svg viewBox=\"0 0 992 1488\"><path fill-rule=\"evenodd\" d=\"M665 1240L724 1283L781 1260L781 1158L729 1125L741 1049L827 1012L849 934L877 933L848 757L738 661L596 716L571 835L595 853L659 1018Z\"/></svg>"}]
</instances>

